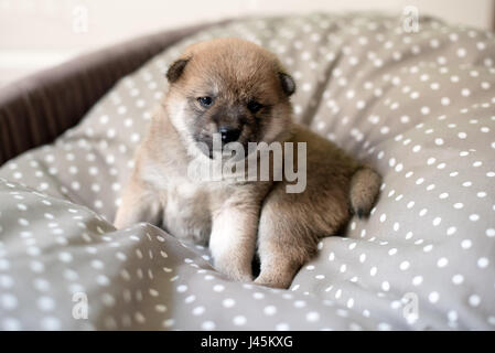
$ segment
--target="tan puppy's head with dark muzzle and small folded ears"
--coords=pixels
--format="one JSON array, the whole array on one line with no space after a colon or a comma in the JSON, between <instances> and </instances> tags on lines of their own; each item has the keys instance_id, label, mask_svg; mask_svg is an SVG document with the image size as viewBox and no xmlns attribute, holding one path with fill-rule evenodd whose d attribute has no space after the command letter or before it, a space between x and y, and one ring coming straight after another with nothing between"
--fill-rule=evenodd
<instances>
[{"instance_id":1,"label":"tan puppy's head with dark muzzle and small folded ears","mask_svg":"<svg viewBox=\"0 0 495 353\"><path fill-rule=\"evenodd\" d=\"M277 57L238 39L190 46L174 62L164 106L186 143L204 143L212 157L213 136L222 143L270 143L288 132L289 96L295 85Z\"/></svg>"}]
</instances>

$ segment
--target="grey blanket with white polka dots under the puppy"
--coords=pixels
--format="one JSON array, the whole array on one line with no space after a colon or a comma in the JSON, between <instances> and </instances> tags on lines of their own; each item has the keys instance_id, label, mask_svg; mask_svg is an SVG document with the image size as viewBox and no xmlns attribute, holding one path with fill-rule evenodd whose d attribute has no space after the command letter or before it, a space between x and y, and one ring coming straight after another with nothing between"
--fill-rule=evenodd
<instances>
[{"instance_id":1,"label":"grey blanket with white polka dots under the puppy","mask_svg":"<svg viewBox=\"0 0 495 353\"><path fill-rule=\"evenodd\" d=\"M319 244L288 290L227 280L208 250L111 221L184 46L277 53L294 118L383 175L368 220ZM494 330L495 39L378 14L239 20L122 78L75 128L0 170L1 330Z\"/></svg>"}]
</instances>

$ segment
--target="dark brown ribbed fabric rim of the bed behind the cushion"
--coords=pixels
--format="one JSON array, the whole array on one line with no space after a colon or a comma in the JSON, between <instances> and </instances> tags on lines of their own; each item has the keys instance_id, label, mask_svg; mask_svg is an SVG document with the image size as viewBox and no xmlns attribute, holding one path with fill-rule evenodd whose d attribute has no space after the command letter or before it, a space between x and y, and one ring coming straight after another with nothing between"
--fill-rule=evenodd
<instances>
[{"instance_id":1,"label":"dark brown ribbed fabric rim of the bed behind the cushion","mask_svg":"<svg viewBox=\"0 0 495 353\"><path fill-rule=\"evenodd\" d=\"M211 25L141 36L77 56L2 87L0 164L31 148L52 142L76 125L120 77L179 40Z\"/></svg>"}]
</instances>

